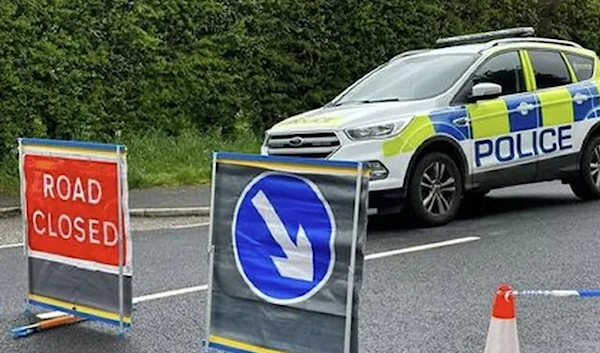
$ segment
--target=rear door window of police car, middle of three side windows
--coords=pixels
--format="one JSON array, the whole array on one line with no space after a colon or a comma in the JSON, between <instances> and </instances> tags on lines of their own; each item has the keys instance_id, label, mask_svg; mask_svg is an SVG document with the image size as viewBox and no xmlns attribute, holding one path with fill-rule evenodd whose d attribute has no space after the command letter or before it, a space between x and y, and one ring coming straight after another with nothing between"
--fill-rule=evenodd
<instances>
[{"instance_id":1,"label":"rear door window of police car, middle of three side windows","mask_svg":"<svg viewBox=\"0 0 600 353\"><path fill-rule=\"evenodd\" d=\"M569 69L559 52L528 50L538 89L568 85Z\"/></svg>"}]
</instances>

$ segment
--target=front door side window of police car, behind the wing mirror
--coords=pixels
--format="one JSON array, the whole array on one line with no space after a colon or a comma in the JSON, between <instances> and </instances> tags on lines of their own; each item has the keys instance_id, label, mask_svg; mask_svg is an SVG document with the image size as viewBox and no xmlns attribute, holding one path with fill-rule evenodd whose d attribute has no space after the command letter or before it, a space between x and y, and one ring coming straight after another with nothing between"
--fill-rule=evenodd
<instances>
[{"instance_id":1,"label":"front door side window of police car, behind the wing mirror","mask_svg":"<svg viewBox=\"0 0 600 353\"><path fill-rule=\"evenodd\" d=\"M525 75L519 54L515 51L502 53L485 62L475 72L471 87L484 82L502 86L502 95L525 92Z\"/></svg>"}]
</instances>

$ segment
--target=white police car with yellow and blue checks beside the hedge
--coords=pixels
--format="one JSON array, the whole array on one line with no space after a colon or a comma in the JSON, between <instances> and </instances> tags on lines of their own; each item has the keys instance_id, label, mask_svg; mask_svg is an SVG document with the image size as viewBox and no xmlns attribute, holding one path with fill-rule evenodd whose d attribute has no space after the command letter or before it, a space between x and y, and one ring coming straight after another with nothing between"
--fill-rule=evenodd
<instances>
[{"instance_id":1,"label":"white police car with yellow and blue checks beside the hedge","mask_svg":"<svg viewBox=\"0 0 600 353\"><path fill-rule=\"evenodd\" d=\"M492 189L562 180L600 198L598 56L533 28L402 53L270 128L264 155L369 161L369 211L425 226Z\"/></svg>"}]
</instances>

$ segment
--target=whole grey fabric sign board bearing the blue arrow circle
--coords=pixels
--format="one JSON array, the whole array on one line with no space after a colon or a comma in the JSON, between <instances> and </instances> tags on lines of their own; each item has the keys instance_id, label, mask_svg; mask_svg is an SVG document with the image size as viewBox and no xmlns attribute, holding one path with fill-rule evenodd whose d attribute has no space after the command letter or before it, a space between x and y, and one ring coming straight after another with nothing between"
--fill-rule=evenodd
<instances>
[{"instance_id":1,"label":"whole grey fabric sign board bearing the blue arrow circle","mask_svg":"<svg viewBox=\"0 0 600 353\"><path fill-rule=\"evenodd\" d=\"M209 350L357 352L367 167L217 153L214 173Z\"/></svg>"}]
</instances>

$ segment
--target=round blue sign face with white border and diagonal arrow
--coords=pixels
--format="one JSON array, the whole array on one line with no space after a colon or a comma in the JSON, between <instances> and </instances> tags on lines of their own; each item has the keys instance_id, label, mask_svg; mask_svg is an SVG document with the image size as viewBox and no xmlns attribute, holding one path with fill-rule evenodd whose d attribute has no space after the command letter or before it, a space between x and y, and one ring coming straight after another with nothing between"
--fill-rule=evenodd
<instances>
[{"instance_id":1,"label":"round blue sign face with white border and diagonal arrow","mask_svg":"<svg viewBox=\"0 0 600 353\"><path fill-rule=\"evenodd\" d=\"M331 208L312 181L263 173L244 189L235 209L236 265L262 299L302 302L331 276L335 229Z\"/></svg>"}]
</instances>

